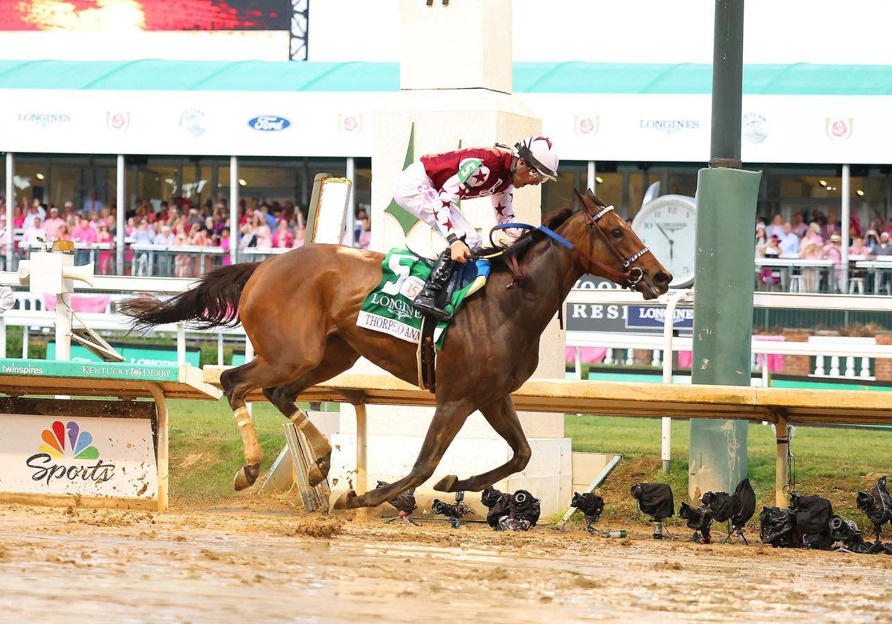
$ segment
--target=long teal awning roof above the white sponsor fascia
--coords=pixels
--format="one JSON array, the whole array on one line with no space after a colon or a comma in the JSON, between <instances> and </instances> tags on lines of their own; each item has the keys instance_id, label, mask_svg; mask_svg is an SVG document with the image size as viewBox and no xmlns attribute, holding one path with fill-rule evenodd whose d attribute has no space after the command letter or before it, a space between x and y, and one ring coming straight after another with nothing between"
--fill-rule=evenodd
<instances>
[{"instance_id":1,"label":"long teal awning roof above the white sponsor fascia","mask_svg":"<svg viewBox=\"0 0 892 624\"><path fill-rule=\"evenodd\" d=\"M0 61L0 89L394 92L396 62ZM517 62L516 93L709 94L712 65ZM746 65L745 94L889 95L890 65Z\"/></svg>"}]
</instances>

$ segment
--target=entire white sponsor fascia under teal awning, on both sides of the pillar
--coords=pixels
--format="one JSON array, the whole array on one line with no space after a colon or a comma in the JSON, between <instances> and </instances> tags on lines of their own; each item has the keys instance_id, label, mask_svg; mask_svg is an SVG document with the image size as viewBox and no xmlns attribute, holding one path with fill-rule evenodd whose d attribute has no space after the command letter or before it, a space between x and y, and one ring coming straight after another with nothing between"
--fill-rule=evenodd
<instances>
[{"instance_id":1,"label":"entire white sponsor fascia under teal awning, on both sides of the pillar","mask_svg":"<svg viewBox=\"0 0 892 624\"><path fill-rule=\"evenodd\" d=\"M709 160L708 94L517 97L562 160ZM370 157L389 92L19 89L0 102L0 151ZM892 97L744 95L745 162L886 162ZM87 147L88 146L88 147Z\"/></svg>"}]
</instances>

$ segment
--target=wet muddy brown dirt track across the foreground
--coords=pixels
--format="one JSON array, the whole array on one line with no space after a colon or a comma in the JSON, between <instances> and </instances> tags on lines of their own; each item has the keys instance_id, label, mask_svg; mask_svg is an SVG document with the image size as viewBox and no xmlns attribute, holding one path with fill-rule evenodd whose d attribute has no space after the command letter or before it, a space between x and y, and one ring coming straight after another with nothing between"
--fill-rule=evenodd
<instances>
[{"instance_id":1,"label":"wet muddy brown dirt track across the foreground","mask_svg":"<svg viewBox=\"0 0 892 624\"><path fill-rule=\"evenodd\" d=\"M42 622L892 621L892 556L655 542L646 530L10 505L0 610Z\"/></svg>"}]
</instances>

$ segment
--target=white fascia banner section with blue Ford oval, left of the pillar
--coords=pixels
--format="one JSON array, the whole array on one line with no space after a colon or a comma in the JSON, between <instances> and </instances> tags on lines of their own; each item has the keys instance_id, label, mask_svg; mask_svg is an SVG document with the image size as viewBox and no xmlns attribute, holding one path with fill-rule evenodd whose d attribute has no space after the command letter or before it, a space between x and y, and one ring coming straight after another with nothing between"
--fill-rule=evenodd
<instances>
[{"instance_id":1,"label":"white fascia banner section with blue Ford oval, left of the pillar","mask_svg":"<svg viewBox=\"0 0 892 624\"><path fill-rule=\"evenodd\" d=\"M0 102L0 150L370 156L368 113L388 95L25 89Z\"/></svg>"}]
</instances>

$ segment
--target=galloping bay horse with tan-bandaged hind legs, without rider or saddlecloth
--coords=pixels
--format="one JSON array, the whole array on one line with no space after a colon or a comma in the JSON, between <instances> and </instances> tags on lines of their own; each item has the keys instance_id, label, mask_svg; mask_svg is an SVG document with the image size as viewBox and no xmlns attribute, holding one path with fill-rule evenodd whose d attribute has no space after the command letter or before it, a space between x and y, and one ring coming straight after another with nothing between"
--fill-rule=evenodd
<instances>
[{"instance_id":1,"label":"galloping bay horse with tan-bandaged hind legs, without rider or saddlecloth","mask_svg":"<svg viewBox=\"0 0 892 624\"><path fill-rule=\"evenodd\" d=\"M541 333L576 280L599 275L648 300L668 290L672 275L625 220L591 191L574 193L580 209L560 210L543 224L548 231L521 238L528 244L517 254L524 275L519 287L508 288L516 283L516 269L492 262L489 283L468 298L450 326L437 357L434 418L412 471L361 495L351 490L336 508L380 505L429 479L475 410L508 442L513 456L467 479L444 477L434 489L480 491L523 470L531 451L511 392L533 374ZM121 310L136 330L178 321L207 329L241 320L255 357L220 375L244 442L245 465L235 473L235 489L254 483L263 456L245 406L248 392L262 389L304 432L316 458L308 478L316 485L326 478L332 447L296 405L301 391L343 373L359 357L417 383L415 345L356 324L363 300L381 282L383 260L374 251L308 244L262 262L221 267L168 300L141 293L123 302Z\"/></svg>"}]
</instances>

